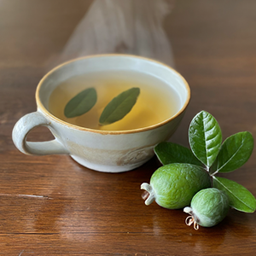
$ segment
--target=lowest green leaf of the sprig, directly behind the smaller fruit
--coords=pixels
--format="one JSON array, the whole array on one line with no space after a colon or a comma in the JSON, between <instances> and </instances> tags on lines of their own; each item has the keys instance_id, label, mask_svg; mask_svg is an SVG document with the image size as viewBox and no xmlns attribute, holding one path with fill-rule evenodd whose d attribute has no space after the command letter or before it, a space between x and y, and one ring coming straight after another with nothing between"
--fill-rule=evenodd
<instances>
[{"instance_id":1,"label":"lowest green leaf of the sprig, directly behind the smaller fruit","mask_svg":"<svg viewBox=\"0 0 256 256\"><path fill-rule=\"evenodd\" d=\"M230 207L241 212L255 211L256 200L242 185L224 177L213 177L213 187L223 190L229 196Z\"/></svg>"}]
</instances>

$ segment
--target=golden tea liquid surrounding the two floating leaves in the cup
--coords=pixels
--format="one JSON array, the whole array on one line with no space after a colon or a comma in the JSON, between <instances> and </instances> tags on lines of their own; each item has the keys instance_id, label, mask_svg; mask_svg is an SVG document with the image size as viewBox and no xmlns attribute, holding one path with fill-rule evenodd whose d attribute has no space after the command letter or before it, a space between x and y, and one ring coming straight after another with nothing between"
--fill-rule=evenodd
<instances>
[{"instance_id":1,"label":"golden tea liquid surrounding the two floating leaves in the cup","mask_svg":"<svg viewBox=\"0 0 256 256\"><path fill-rule=\"evenodd\" d=\"M67 102L90 87L96 89L96 105L83 115L67 118L64 115ZM131 112L111 125L99 125L100 116L108 102L132 87L139 87L140 95ZM134 71L97 72L75 76L59 84L49 97L49 112L58 119L105 131L125 131L155 125L172 117L179 108L179 97L168 84L148 74Z\"/></svg>"}]
</instances>

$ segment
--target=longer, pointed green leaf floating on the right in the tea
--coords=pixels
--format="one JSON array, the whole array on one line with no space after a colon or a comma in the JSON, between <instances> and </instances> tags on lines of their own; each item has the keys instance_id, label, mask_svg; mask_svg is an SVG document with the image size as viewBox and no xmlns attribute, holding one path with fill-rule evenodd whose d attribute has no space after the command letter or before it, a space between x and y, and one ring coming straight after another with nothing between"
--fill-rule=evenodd
<instances>
[{"instance_id":1,"label":"longer, pointed green leaf floating on the right in the tea","mask_svg":"<svg viewBox=\"0 0 256 256\"><path fill-rule=\"evenodd\" d=\"M137 97L140 94L140 89L137 87L125 90L113 98L104 108L100 117L100 125L110 125L120 119L123 119L131 108L137 102Z\"/></svg>"}]
</instances>

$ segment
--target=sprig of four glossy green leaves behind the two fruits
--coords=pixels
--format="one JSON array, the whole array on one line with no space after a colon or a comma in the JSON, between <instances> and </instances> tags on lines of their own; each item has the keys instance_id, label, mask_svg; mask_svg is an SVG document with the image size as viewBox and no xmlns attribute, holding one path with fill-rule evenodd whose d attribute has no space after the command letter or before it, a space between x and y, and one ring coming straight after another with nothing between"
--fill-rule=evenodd
<instances>
[{"instance_id":1,"label":"sprig of four glossy green leaves behind the two fruits","mask_svg":"<svg viewBox=\"0 0 256 256\"><path fill-rule=\"evenodd\" d=\"M218 172L233 172L244 165L253 153L253 136L248 131L238 132L222 143L222 132L217 120L206 111L197 113L189 125L189 145L160 143L154 153L163 165L189 163L205 166L212 177L212 186L223 190L230 199L230 207L241 212L254 212L256 199L241 184Z\"/></svg>"}]
</instances>

